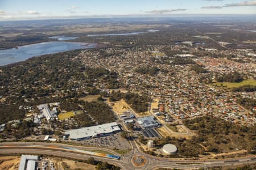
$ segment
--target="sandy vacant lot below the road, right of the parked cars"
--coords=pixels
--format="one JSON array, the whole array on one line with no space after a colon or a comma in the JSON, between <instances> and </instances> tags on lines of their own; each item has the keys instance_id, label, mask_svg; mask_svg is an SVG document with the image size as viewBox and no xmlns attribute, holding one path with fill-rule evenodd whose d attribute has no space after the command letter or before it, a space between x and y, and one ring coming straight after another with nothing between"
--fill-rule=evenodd
<instances>
[{"instance_id":1,"label":"sandy vacant lot below the road, right of the parked cars","mask_svg":"<svg viewBox=\"0 0 256 170\"><path fill-rule=\"evenodd\" d=\"M55 158L54 162L55 162L55 165L57 165L56 169L64 169L61 165L63 162L67 163L71 170L74 170L74 169L94 170L95 169L94 165L75 162L74 160ZM59 167L61 167L61 168L59 168Z\"/></svg>"}]
</instances>

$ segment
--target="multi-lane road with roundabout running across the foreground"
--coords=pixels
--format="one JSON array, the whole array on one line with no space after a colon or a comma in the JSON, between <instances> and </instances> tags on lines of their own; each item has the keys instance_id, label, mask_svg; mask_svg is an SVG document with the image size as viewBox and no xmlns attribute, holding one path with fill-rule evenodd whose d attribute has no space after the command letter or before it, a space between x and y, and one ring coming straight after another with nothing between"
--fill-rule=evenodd
<instances>
[{"instance_id":1,"label":"multi-lane road with roundabout running across the foreground","mask_svg":"<svg viewBox=\"0 0 256 170\"><path fill-rule=\"evenodd\" d=\"M135 143L133 143L135 145ZM68 146L68 147L67 147ZM75 148L76 150L73 150ZM118 155L112 150L106 148L94 148L94 147L81 147L81 146L70 146L60 143L42 143L42 142L6 142L0 143L0 154L44 154L44 155L55 155L65 158L73 159L88 159L93 157L96 160L103 162L108 162L110 164L117 165L122 169L158 169L158 168L178 168L178 169L199 169L208 167L219 167L228 165L238 165L238 164L249 164L256 163L256 156L248 156L246 158L236 158L236 159L225 159L225 160L179 160L179 159L164 159L157 158L152 155L146 155L134 146L134 150L129 154L121 156L121 159L111 159L102 156L95 156L90 154L85 154L79 150L105 150L114 155ZM131 163L131 158L135 155L143 155L147 159L146 165L144 167L138 168L134 167Z\"/></svg>"}]
</instances>

